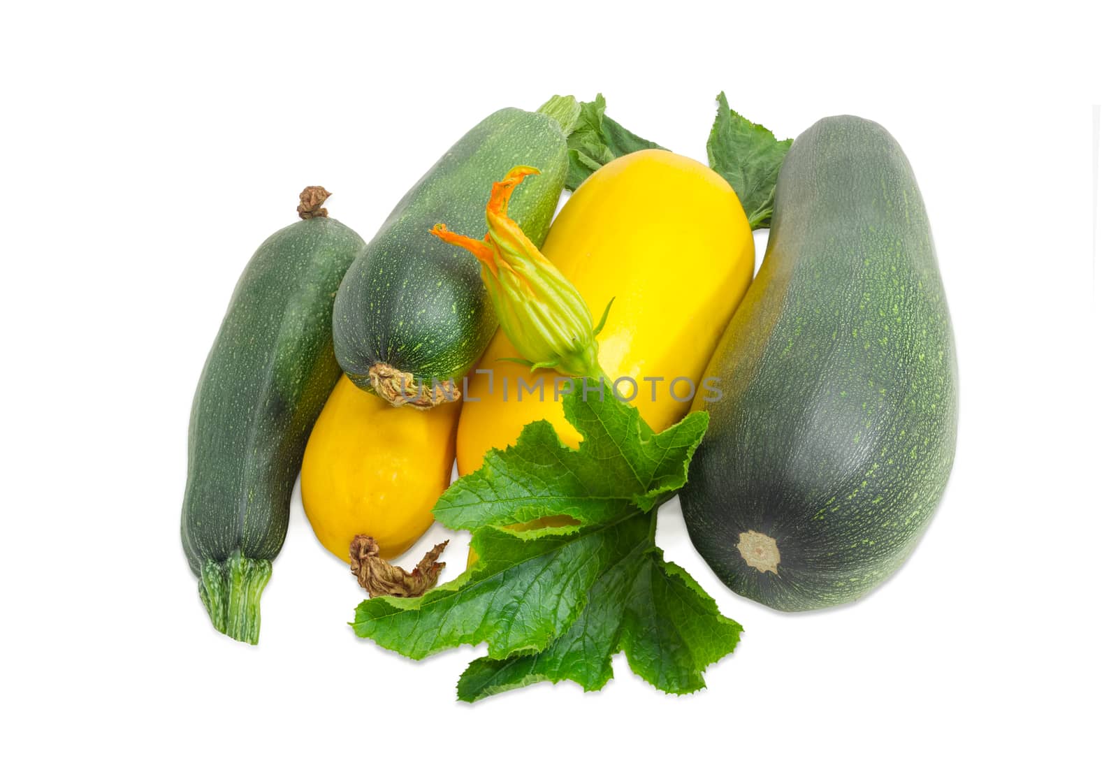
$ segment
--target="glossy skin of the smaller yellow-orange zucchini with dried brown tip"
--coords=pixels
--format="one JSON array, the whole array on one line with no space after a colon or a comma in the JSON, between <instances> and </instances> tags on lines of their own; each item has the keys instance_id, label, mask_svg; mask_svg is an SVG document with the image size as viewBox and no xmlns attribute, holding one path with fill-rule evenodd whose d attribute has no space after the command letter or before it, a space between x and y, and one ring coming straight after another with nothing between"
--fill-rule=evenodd
<instances>
[{"instance_id":1,"label":"glossy skin of the smaller yellow-orange zucchini with dried brown tip","mask_svg":"<svg viewBox=\"0 0 1118 772\"><path fill-rule=\"evenodd\" d=\"M411 546L451 483L459 411L394 408L342 375L303 456L303 508L322 545L347 563L357 534L386 560Z\"/></svg>"}]
</instances>

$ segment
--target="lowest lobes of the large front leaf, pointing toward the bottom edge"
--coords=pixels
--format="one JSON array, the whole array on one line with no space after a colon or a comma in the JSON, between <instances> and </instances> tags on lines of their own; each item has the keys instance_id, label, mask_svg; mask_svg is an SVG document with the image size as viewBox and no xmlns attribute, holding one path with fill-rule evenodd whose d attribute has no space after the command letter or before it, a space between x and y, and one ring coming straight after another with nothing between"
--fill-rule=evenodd
<instances>
[{"instance_id":1,"label":"lowest lobes of the large front leaf, pointing toward the bottom edge","mask_svg":"<svg viewBox=\"0 0 1118 772\"><path fill-rule=\"evenodd\" d=\"M541 680L569 679L587 692L613 678L613 655L662 692L688 694L705 686L702 673L738 645L741 626L647 537L604 573L570 629L539 654L475 659L458 679L467 703Z\"/></svg>"}]
</instances>

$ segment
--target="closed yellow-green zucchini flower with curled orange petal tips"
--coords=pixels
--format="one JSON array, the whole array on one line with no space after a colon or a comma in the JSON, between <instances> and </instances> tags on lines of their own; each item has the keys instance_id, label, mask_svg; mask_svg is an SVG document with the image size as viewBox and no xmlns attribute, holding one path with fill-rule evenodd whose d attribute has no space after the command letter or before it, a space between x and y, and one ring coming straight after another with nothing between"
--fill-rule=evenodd
<instances>
[{"instance_id":1,"label":"closed yellow-green zucchini flower with curled orange petal tips","mask_svg":"<svg viewBox=\"0 0 1118 772\"><path fill-rule=\"evenodd\" d=\"M575 378L598 378L603 373L595 336L606 323L609 306L595 326L575 285L509 217L513 189L525 177L539 173L531 166L517 166L493 183L485 207L489 232L484 239L451 232L442 222L430 232L470 250L482 264L482 280L493 298L501 327L524 358L517 362L532 370L552 368Z\"/></svg>"}]
</instances>

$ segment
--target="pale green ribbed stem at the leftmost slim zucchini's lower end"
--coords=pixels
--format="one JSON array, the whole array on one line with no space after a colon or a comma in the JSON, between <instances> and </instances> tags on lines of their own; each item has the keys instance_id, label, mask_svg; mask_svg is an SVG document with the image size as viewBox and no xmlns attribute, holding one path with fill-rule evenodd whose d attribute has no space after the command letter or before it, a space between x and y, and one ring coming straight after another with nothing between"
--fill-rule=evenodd
<instances>
[{"instance_id":1,"label":"pale green ribbed stem at the leftmost slim zucchini's lower end","mask_svg":"<svg viewBox=\"0 0 1118 772\"><path fill-rule=\"evenodd\" d=\"M214 627L235 640L260 638L260 595L272 578L272 561L234 552L224 562L206 561L198 593Z\"/></svg>"}]
</instances>

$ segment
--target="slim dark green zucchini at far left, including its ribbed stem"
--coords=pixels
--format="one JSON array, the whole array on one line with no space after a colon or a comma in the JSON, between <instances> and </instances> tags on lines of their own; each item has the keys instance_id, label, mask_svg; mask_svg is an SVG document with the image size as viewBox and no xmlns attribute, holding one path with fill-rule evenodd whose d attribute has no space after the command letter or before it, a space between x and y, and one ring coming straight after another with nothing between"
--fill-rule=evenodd
<instances>
[{"instance_id":1,"label":"slim dark green zucchini at far left, including its ribbed stem","mask_svg":"<svg viewBox=\"0 0 1118 772\"><path fill-rule=\"evenodd\" d=\"M326 196L303 191L304 219L253 255L190 411L182 546L214 627L250 644L303 448L340 375L333 295L364 246L325 216Z\"/></svg>"}]
</instances>

